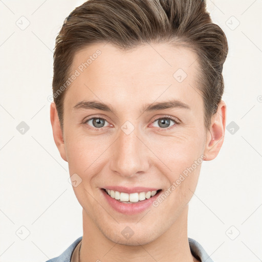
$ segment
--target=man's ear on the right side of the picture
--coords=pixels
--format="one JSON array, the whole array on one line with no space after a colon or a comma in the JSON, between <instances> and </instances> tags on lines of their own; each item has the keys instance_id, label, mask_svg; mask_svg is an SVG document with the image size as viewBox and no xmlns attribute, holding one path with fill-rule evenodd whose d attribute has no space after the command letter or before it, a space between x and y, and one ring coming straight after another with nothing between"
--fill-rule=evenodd
<instances>
[{"instance_id":1,"label":"man's ear on the right side of the picture","mask_svg":"<svg viewBox=\"0 0 262 262\"><path fill-rule=\"evenodd\" d=\"M224 142L226 127L226 103L222 100L217 112L212 117L210 130L207 132L207 140L204 150L205 160L213 160L219 154Z\"/></svg>"}]
</instances>

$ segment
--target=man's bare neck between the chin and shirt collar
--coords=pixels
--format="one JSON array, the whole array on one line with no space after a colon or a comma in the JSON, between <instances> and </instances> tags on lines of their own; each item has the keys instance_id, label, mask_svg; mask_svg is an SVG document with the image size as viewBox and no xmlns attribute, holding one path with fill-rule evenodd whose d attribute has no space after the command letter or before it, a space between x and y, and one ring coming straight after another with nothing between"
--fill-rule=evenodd
<instances>
[{"instance_id":1,"label":"man's bare neck between the chin and shirt collar","mask_svg":"<svg viewBox=\"0 0 262 262\"><path fill-rule=\"evenodd\" d=\"M188 205L172 226L154 241L145 245L119 245L106 238L83 210L83 238L80 261L107 262L193 262L187 237Z\"/></svg>"}]
</instances>

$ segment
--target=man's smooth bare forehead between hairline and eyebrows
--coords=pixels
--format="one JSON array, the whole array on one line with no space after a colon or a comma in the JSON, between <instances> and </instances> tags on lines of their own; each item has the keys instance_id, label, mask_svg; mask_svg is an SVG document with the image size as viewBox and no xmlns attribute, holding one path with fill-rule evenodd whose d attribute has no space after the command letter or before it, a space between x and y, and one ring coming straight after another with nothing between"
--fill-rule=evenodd
<instances>
[{"instance_id":1,"label":"man's smooth bare forehead between hairline and eyebrows","mask_svg":"<svg viewBox=\"0 0 262 262\"><path fill-rule=\"evenodd\" d=\"M93 44L75 54L71 72L78 72L78 76L70 84L64 102L73 106L92 98L136 104L172 97L191 103L201 99L196 92L197 58L187 48L163 43L128 51L110 43Z\"/></svg>"}]
</instances>

